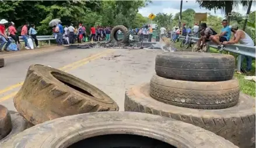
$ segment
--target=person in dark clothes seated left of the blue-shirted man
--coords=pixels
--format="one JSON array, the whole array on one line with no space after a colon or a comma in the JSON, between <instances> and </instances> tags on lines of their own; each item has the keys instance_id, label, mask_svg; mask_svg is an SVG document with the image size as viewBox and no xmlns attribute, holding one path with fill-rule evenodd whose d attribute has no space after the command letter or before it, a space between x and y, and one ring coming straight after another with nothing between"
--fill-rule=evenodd
<instances>
[{"instance_id":1,"label":"person in dark clothes seated left of the blue-shirted man","mask_svg":"<svg viewBox=\"0 0 256 148\"><path fill-rule=\"evenodd\" d=\"M200 31L201 37L198 40L198 48L197 51L201 50L204 47L204 44L206 41L210 40L210 37L217 34L213 29L210 27L207 27L206 23L201 24L201 31Z\"/></svg>"}]
</instances>

